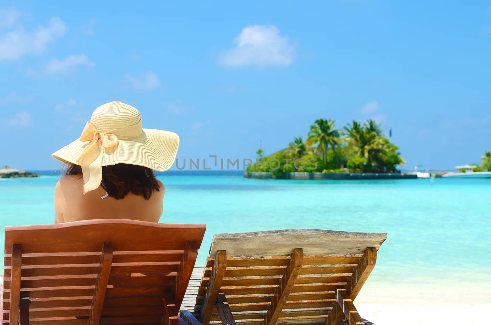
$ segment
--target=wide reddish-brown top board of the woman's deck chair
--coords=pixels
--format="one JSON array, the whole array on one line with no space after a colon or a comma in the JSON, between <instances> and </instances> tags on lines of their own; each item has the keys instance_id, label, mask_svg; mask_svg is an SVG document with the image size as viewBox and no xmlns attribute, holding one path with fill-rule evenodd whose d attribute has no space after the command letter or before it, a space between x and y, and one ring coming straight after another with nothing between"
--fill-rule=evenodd
<instances>
[{"instance_id":1,"label":"wide reddish-brown top board of the woman's deck chair","mask_svg":"<svg viewBox=\"0 0 491 325\"><path fill-rule=\"evenodd\" d=\"M50 225L5 227L5 253L26 243L23 254L100 252L101 240L118 251L182 250L187 241L198 246L205 225L165 224L126 219L97 219ZM69 247L69 249L68 249Z\"/></svg>"}]
</instances>

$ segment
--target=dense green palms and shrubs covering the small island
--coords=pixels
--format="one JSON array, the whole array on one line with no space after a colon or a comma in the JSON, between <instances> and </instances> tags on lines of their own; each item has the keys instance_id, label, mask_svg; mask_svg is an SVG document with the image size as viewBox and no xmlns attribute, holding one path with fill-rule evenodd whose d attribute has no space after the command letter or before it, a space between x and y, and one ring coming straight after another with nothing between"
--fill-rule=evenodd
<instances>
[{"instance_id":1,"label":"dense green palms and shrubs covering the small island","mask_svg":"<svg viewBox=\"0 0 491 325\"><path fill-rule=\"evenodd\" d=\"M336 129L334 120L317 119L305 142L299 135L286 149L266 157L259 149L258 160L247 171L266 171L274 176L296 171L394 172L405 161L399 147L382 133L381 124L371 119L363 124L353 121L342 130Z\"/></svg>"}]
</instances>

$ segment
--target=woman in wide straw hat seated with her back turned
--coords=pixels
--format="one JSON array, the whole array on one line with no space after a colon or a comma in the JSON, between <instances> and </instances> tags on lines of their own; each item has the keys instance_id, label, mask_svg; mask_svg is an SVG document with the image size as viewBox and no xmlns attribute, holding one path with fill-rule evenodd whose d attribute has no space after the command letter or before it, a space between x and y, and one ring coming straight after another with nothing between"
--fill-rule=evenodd
<instances>
[{"instance_id":1,"label":"woman in wide straw hat seated with her back turned","mask_svg":"<svg viewBox=\"0 0 491 325\"><path fill-rule=\"evenodd\" d=\"M140 113L121 102L98 107L82 135L53 154L66 164L55 187L55 223L101 218L158 222L165 171L176 158L179 136L142 129Z\"/></svg>"}]
</instances>

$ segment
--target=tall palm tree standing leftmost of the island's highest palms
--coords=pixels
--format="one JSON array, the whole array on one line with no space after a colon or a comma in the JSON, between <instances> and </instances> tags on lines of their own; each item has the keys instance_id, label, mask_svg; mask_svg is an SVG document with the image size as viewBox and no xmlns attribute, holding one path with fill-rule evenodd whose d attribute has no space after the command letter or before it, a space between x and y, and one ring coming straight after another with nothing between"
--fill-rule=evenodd
<instances>
[{"instance_id":1,"label":"tall palm tree standing leftmost of the island's highest palms","mask_svg":"<svg viewBox=\"0 0 491 325\"><path fill-rule=\"evenodd\" d=\"M310 132L307 135L307 147L317 144L315 152L322 156L322 162L327 160L327 149L334 149L341 143L339 130L335 129L335 120L325 120L320 118L315 120L315 124L310 126Z\"/></svg>"}]
</instances>

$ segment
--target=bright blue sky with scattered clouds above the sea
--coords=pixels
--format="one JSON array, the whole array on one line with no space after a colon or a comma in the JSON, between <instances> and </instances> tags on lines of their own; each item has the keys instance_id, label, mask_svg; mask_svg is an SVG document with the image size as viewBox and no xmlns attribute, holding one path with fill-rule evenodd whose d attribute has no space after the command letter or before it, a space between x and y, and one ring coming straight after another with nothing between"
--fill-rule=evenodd
<instances>
[{"instance_id":1,"label":"bright blue sky with scattered clouds above the sea","mask_svg":"<svg viewBox=\"0 0 491 325\"><path fill-rule=\"evenodd\" d=\"M136 107L178 158L255 158L339 128L392 127L404 169L491 149L491 2L0 4L0 165L56 169L98 106Z\"/></svg>"}]
</instances>

